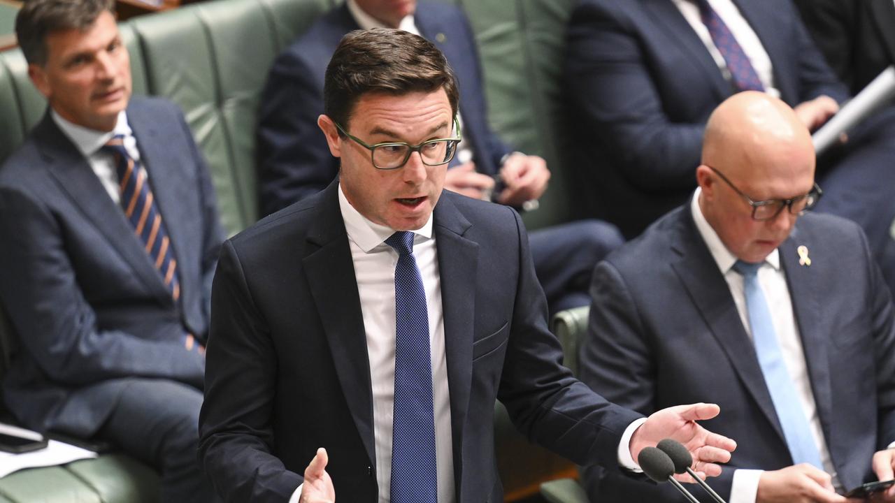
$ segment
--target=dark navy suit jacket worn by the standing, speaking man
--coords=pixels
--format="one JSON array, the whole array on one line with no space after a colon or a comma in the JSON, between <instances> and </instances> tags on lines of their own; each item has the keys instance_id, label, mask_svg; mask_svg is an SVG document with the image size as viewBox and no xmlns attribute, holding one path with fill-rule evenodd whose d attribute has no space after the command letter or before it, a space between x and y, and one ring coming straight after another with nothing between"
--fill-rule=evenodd
<instances>
[{"instance_id":1,"label":"dark navy suit jacket worn by the standing, speaking man","mask_svg":"<svg viewBox=\"0 0 895 503\"><path fill-rule=\"evenodd\" d=\"M560 365L513 209L443 192L434 212L457 501L503 501L499 398L530 439L620 471L639 417ZM200 460L218 494L282 503L317 448L340 501L375 503L372 391L337 184L226 242L214 281Z\"/></svg>"}]
</instances>

